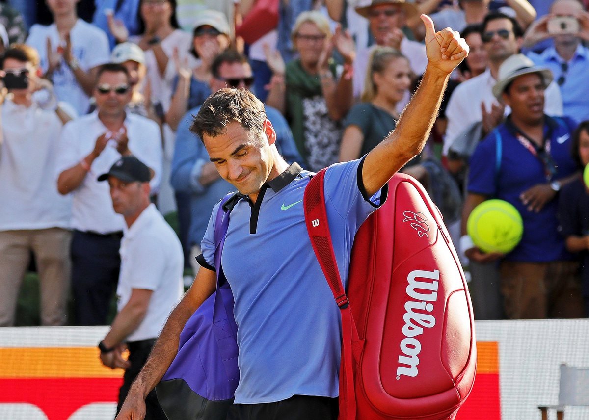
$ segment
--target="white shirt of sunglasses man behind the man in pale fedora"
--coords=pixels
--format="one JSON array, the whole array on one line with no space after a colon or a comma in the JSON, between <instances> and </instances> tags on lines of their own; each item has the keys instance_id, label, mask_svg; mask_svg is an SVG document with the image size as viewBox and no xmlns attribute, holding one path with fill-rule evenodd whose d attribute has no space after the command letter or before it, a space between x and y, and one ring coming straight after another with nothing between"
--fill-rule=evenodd
<instances>
[{"instance_id":1,"label":"white shirt of sunglasses man behind the man in pale fedora","mask_svg":"<svg viewBox=\"0 0 589 420\"><path fill-rule=\"evenodd\" d=\"M481 103L485 102L487 112L491 111L491 104L497 103L492 88L497 81L492 77L491 70L469 79L456 87L446 107L448 127L444 139L442 153L448 154L450 145L456 137L470 125L482 121ZM558 85L552 82L544 92L544 112L547 115L562 115L562 97ZM511 113L509 107L505 107L505 115Z\"/></svg>"}]
</instances>

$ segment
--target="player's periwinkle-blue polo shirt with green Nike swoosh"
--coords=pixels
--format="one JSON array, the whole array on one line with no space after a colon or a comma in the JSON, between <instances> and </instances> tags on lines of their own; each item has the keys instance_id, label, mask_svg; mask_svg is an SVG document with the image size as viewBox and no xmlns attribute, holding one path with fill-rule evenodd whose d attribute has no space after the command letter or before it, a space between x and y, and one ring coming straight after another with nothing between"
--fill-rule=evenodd
<instances>
[{"instance_id":1,"label":"player's periwinkle-blue polo shirt with green Nike swoosh","mask_svg":"<svg viewBox=\"0 0 589 420\"><path fill-rule=\"evenodd\" d=\"M386 197L384 189L365 197L362 163L335 164L325 175L327 219L342 279L348 277L356 231ZM244 196L230 204L221 262L235 297L238 404L338 395L340 314L305 225L303 194L310 175L293 164L264 184L255 204ZM211 219L199 259L204 266L214 266L213 233Z\"/></svg>"}]
</instances>

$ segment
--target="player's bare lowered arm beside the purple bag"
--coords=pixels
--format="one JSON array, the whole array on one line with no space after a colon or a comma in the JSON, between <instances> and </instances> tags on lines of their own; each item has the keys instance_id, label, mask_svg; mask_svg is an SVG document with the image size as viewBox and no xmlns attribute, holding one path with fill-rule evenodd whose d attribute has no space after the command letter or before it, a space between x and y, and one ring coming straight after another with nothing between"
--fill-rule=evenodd
<instances>
[{"instance_id":1,"label":"player's bare lowered arm beside the purple bag","mask_svg":"<svg viewBox=\"0 0 589 420\"><path fill-rule=\"evenodd\" d=\"M145 416L145 397L155 388L170 367L178 352L180 332L194 311L213 294L215 272L202 268L186 295L170 314L160 337L155 342L145 366L137 375L116 420L136 420Z\"/></svg>"}]
</instances>

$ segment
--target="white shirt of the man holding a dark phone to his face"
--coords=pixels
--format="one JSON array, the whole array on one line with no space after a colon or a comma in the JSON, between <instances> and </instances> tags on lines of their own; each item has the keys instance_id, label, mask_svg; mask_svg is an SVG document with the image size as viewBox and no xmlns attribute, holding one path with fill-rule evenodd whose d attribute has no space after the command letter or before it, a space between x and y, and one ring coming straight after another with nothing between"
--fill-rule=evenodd
<instances>
[{"instance_id":1,"label":"white shirt of the man holding a dark phone to his face","mask_svg":"<svg viewBox=\"0 0 589 420\"><path fill-rule=\"evenodd\" d=\"M71 197L57 192L55 164L62 124L55 111L2 105L0 230L70 227Z\"/></svg>"}]
</instances>

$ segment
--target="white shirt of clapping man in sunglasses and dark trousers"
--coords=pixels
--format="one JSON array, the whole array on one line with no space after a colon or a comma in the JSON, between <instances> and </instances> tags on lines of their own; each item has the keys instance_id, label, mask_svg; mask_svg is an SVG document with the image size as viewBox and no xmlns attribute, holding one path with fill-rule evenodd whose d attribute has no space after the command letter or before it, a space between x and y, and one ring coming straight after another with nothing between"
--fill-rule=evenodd
<instances>
[{"instance_id":1,"label":"white shirt of clapping man in sunglasses and dark trousers","mask_svg":"<svg viewBox=\"0 0 589 420\"><path fill-rule=\"evenodd\" d=\"M125 118L129 150L135 157L153 169L150 181L157 191L161 179L162 150L160 128L148 118L127 113ZM65 124L59 140L57 174L76 166L94 149L96 139L107 131L98 118L98 112L83 115ZM78 188L72 191L72 227L84 232L112 233L123 230L123 216L112 209L108 183L96 178L107 173L112 164L121 158L117 149L107 144Z\"/></svg>"}]
</instances>

